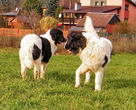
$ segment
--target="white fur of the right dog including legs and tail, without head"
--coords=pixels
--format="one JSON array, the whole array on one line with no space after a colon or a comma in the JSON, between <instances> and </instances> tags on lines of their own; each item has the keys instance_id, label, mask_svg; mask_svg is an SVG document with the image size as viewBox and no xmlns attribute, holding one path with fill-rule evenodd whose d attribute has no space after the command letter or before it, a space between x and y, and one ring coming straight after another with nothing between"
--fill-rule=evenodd
<instances>
[{"instance_id":1,"label":"white fur of the right dog including legs and tail, without head","mask_svg":"<svg viewBox=\"0 0 136 110\"><path fill-rule=\"evenodd\" d=\"M80 59L82 64L76 70L76 84L75 87L80 85L80 74L86 73L85 83L90 80L89 72L95 73L95 90L101 90L102 78L105 67L102 64L105 62L104 57L108 57L110 61L112 44L111 42L103 37L99 37L96 33L92 20L87 16L84 25L86 32L83 32L83 36L87 39L86 47L80 51Z\"/></svg>"}]
</instances>

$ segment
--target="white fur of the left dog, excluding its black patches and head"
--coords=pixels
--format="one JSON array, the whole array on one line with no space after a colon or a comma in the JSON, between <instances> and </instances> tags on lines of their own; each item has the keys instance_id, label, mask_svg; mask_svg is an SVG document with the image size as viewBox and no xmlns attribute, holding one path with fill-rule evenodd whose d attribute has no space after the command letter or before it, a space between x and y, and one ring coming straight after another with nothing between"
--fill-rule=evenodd
<instances>
[{"instance_id":1,"label":"white fur of the left dog, excluding its black patches and head","mask_svg":"<svg viewBox=\"0 0 136 110\"><path fill-rule=\"evenodd\" d=\"M57 46L51 38L50 30L46 34L41 35L41 37L49 40L51 45L52 55L57 50ZM33 60L32 52L34 44L42 51L41 39L35 34L28 34L24 36L21 40L21 48L19 50L19 57L21 62L21 75L24 79L26 77L27 68L31 69L34 66L34 79L44 78L44 72L47 64L42 63L42 55L37 60Z\"/></svg>"}]
</instances>

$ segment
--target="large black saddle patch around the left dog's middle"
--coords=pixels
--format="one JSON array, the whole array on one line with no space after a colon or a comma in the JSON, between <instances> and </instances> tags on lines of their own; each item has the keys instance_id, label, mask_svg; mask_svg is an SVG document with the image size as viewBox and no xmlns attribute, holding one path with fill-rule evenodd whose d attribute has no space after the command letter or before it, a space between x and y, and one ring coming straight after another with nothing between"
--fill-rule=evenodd
<instances>
[{"instance_id":1,"label":"large black saddle patch around the left dog's middle","mask_svg":"<svg viewBox=\"0 0 136 110\"><path fill-rule=\"evenodd\" d=\"M40 38L42 40L42 56L43 56L42 62L48 63L50 57L52 56L51 45L46 38L43 37Z\"/></svg>"}]
</instances>

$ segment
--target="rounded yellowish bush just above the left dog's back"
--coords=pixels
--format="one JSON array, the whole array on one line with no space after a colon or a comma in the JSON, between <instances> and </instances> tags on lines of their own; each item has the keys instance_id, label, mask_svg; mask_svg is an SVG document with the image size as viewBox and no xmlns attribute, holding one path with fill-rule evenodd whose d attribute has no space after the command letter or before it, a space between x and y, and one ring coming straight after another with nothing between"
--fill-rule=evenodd
<instances>
[{"instance_id":1,"label":"rounded yellowish bush just above the left dog's back","mask_svg":"<svg viewBox=\"0 0 136 110\"><path fill-rule=\"evenodd\" d=\"M57 24L59 21L53 17L43 17L40 20L40 29L42 32L46 32L50 28L55 28L57 27Z\"/></svg>"}]
</instances>

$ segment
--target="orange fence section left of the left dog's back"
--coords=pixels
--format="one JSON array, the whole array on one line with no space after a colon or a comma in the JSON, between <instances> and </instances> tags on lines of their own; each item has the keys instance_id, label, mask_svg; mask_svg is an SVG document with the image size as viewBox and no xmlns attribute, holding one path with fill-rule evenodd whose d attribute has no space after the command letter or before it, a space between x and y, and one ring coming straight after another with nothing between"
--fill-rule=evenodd
<instances>
[{"instance_id":1,"label":"orange fence section left of the left dog's back","mask_svg":"<svg viewBox=\"0 0 136 110\"><path fill-rule=\"evenodd\" d=\"M31 29L0 28L0 36L23 37L26 34L33 33Z\"/></svg>"}]
</instances>

